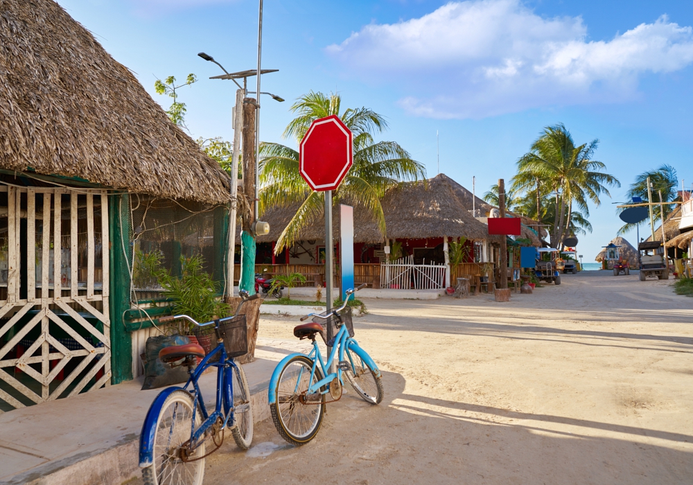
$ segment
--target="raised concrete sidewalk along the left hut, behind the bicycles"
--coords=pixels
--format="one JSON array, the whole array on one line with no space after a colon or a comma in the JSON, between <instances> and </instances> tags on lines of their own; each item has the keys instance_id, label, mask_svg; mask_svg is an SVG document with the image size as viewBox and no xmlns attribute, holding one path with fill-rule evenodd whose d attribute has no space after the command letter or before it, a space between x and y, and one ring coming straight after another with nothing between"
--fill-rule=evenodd
<instances>
[{"instance_id":1,"label":"raised concrete sidewalk along the left hut, behind the bicycles","mask_svg":"<svg viewBox=\"0 0 693 485\"><path fill-rule=\"evenodd\" d=\"M267 385L277 362L305 342L258 339L256 360L243 369L254 421L270 417ZM214 406L216 371L200 379ZM139 475L141 426L161 389L142 380L0 414L0 484L121 484Z\"/></svg>"}]
</instances>

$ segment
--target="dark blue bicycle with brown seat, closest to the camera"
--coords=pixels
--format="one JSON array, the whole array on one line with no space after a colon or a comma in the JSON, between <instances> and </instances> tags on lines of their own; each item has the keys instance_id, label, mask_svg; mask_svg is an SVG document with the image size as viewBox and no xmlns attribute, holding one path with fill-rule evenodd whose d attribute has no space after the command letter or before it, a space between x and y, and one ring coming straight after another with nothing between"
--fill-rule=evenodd
<instances>
[{"instance_id":1,"label":"dark blue bicycle with brown seat, closest to the camera","mask_svg":"<svg viewBox=\"0 0 693 485\"><path fill-rule=\"evenodd\" d=\"M204 458L220 448L228 428L242 450L253 441L253 410L250 389L243 367L234 357L247 353L245 315L238 315L246 301L256 299L240 292L240 305L233 317L200 324L188 315L171 315L162 323L186 319L204 334L213 325L217 346L205 356L198 344L161 349L159 359L171 367L188 368L190 377L183 387L168 387L152 403L142 426L139 441L139 466L146 485L202 485ZM207 330L212 330L211 328ZM198 358L202 362L195 367ZM209 367L217 368L216 407L209 414L204 405L198 379ZM193 389L188 390L188 386ZM223 407L223 409L222 409ZM213 449L207 452L209 441Z\"/></svg>"}]
</instances>

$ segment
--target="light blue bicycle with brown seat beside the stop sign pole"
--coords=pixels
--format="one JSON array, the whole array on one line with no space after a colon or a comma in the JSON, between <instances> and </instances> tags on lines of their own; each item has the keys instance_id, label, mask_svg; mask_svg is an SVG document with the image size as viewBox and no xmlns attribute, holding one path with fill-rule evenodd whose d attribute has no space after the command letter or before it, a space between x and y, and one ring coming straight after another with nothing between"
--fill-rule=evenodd
<instances>
[{"instance_id":1,"label":"light blue bicycle with brown seat beside the stop sign pole","mask_svg":"<svg viewBox=\"0 0 693 485\"><path fill-rule=\"evenodd\" d=\"M347 298L340 308L325 315L311 313L301 318L301 321L309 317L322 319L327 328L339 328L337 335L328 340L326 328L315 320L296 326L294 335L301 340L312 340L313 350L308 355L292 353L286 356L272 373L268 390L272 420L279 434L289 443L303 445L315 438L322 424L325 405L342 397L345 377L367 403L378 404L383 400L383 382L378 366L353 339L351 308L347 303L354 291L347 291ZM328 347L332 347L327 362L322 359L315 342L317 334ZM336 355L339 355L337 369L328 372Z\"/></svg>"}]
</instances>

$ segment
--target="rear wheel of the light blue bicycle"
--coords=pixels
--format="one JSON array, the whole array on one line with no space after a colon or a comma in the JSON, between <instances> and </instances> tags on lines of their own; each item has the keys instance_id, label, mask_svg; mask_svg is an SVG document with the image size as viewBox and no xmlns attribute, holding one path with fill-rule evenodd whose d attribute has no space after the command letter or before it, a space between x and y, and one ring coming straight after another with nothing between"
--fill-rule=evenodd
<instances>
[{"instance_id":1,"label":"rear wheel of the light blue bicycle","mask_svg":"<svg viewBox=\"0 0 693 485\"><path fill-rule=\"evenodd\" d=\"M315 438L325 411L325 396L308 394L308 387L322 379L322 371L310 372L313 361L305 355L289 360L277 381L277 402L270 405L272 421L277 431L289 443L304 445Z\"/></svg>"}]
</instances>

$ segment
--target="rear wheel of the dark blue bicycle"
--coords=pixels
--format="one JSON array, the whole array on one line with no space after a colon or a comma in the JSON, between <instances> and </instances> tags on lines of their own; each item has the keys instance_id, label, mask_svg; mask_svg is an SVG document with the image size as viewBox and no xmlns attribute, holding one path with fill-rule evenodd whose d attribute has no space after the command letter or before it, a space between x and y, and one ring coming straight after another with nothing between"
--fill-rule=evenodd
<instances>
[{"instance_id":1,"label":"rear wheel of the dark blue bicycle","mask_svg":"<svg viewBox=\"0 0 693 485\"><path fill-rule=\"evenodd\" d=\"M173 391L164 401L154 435L154 461L142 470L145 485L202 485L204 458L184 462L179 459L177 451L179 445L190 439L192 414L193 396L188 391ZM200 409L196 409L195 414L195 427L198 427L202 423ZM169 423L166 424L166 421ZM166 430L168 432L164 433ZM193 457L204 455L204 448L205 444L202 443Z\"/></svg>"}]
</instances>

